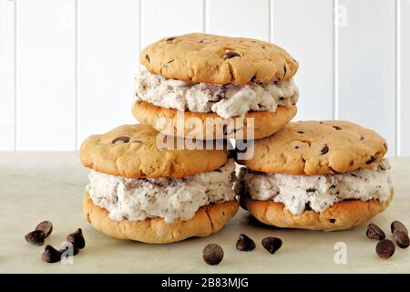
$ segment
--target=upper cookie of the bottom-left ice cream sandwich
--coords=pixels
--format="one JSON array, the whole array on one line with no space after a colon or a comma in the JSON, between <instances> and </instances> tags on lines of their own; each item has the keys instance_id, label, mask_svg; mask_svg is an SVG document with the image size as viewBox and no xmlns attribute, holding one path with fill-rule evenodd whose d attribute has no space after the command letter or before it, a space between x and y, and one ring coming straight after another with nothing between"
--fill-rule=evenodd
<instances>
[{"instance_id":1,"label":"upper cookie of the bottom-left ice cream sandwich","mask_svg":"<svg viewBox=\"0 0 410 292\"><path fill-rule=\"evenodd\" d=\"M220 168L228 159L227 150L176 150L159 143L159 132L147 125L125 125L83 142L80 160L97 172L128 178L176 178ZM162 140L161 140L162 141ZM182 140L179 140L182 141ZM226 148L226 147L225 147Z\"/></svg>"}]
</instances>

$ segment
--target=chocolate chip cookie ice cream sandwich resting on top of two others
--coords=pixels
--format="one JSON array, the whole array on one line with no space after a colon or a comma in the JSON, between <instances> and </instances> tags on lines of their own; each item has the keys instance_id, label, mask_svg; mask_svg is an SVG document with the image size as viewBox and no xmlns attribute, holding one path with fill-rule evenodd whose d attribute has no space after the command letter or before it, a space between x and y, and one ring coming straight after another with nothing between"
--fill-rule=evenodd
<instances>
[{"instance_id":1,"label":"chocolate chip cookie ice cream sandwich resting on top of two others","mask_svg":"<svg viewBox=\"0 0 410 292\"><path fill-rule=\"evenodd\" d=\"M298 63L282 47L197 33L162 38L140 61L133 114L163 133L259 139L296 114Z\"/></svg>"}]
</instances>

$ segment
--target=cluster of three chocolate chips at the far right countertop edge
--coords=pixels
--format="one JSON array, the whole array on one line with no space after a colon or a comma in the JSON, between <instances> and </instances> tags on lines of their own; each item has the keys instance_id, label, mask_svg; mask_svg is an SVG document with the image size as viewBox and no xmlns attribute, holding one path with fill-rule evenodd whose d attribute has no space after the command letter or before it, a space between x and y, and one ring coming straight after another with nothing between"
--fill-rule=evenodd
<instances>
[{"instance_id":1,"label":"cluster of three chocolate chips at the far right countertop edge","mask_svg":"<svg viewBox=\"0 0 410 292\"><path fill-rule=\"evenodd\" d=\"M379 240L375 247L376 254L381 258L387 259L395 254L395 245L400 248L407 248L410 245L407 228L405 224L395 220L390 224L393 240L386 239L382 228L376 224L369 224L366 230L366 236L370 239Z\"/></svg>"}]
</instances>

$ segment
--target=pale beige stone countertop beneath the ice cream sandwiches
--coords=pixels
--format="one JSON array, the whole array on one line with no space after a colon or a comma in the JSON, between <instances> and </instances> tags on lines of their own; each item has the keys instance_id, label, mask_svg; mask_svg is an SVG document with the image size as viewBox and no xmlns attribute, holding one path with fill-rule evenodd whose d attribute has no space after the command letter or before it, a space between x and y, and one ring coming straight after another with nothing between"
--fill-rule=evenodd
<instances>
[{"instance_id":1,"label":"pale beige stone countertop beneath the ice cream sandwiches","mask_svg":"<svg viewBox=\"0 0 410 292\"><path fill-rule=\"evenodd\" d=\"M88 171L77 157L77 152L0 152L0 273L410 273L410 248L396 247L389 260L380 259L376 242L364 235L365 225L333 233L281 230L255 222L243 210L205 238L169 245L109 238L83 217ZM388 237L393 220L410 226L410 157L390 161L395 199L372 220ZM26 243L24 235L43 220L54 224L49 245L59 246L67 234L83 229L87 246L73 264L45 264L40 258L44 246ZM254 251L235 249L241 233L255 240ZM266 236L282 238L275 255L261 246ZM224 249L219 266L202 261L201 251L209 243ZM346 264L335 264L335 246L346 247Z\"/></svg>"}]
</instances>

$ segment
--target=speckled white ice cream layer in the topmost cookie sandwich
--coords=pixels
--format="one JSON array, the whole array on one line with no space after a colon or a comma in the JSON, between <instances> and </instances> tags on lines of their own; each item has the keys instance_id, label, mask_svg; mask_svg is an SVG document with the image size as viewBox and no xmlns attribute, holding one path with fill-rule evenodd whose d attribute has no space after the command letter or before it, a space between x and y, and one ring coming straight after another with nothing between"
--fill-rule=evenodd
<instances>
[{"instance_id":1,"label":"speckled white ice cream layer in the topmost cookie sandwich","mask_svg":"<svg viewBox=\"0 0 410 292\"><path fill-rule=\"evenodd\" d=\"M145 70L135 78L135 94L138 100L161 108L215 112L224 119L243 117L255 110L275 112L278 106L290 106L299 99L293 79L268 84L211 85L164 78Z\"/></svg>"}]
</instances>

